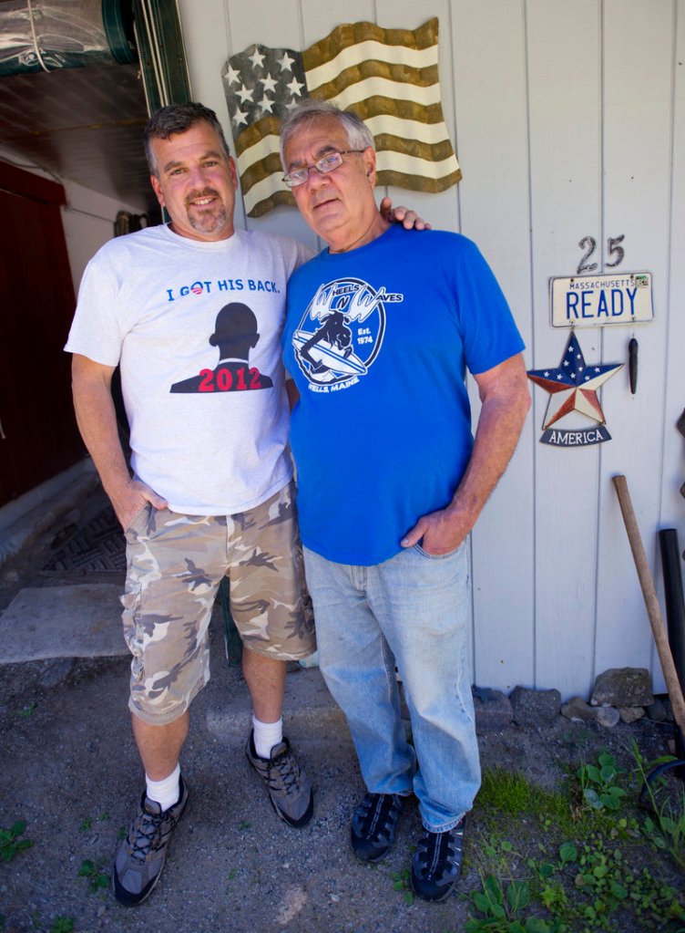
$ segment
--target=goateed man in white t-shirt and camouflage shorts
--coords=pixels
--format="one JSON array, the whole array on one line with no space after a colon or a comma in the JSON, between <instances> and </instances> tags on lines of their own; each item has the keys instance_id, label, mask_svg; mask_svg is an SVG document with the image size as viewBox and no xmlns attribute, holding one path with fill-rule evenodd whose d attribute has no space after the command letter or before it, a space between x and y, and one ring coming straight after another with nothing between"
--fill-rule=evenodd
<instances>
[{"instance_id":1,"label":"goateed man in white t-shirt and camouflage shorts","mask_svg":"<svg viewBox=\"0 0 685 933\"><path fill-rule=\"evenodd\" d=\"M123 621L146 787L116 853L114 889L125 904L157 884L185 808L179 755L189 705L209 678L207 629L224 576L253 700L247 757L289 825L304 826L313 808L281 724L287 661L316 648L279 346L288 276L308 251L235 230L236 169L211 110L166 107L145 142L171 224L103 246L66 344L78 425L127 536ZM248 341L249 359L224 358L231 338ZM132 476L111 394L117 365Z\"/></svg>"}]
</instances>

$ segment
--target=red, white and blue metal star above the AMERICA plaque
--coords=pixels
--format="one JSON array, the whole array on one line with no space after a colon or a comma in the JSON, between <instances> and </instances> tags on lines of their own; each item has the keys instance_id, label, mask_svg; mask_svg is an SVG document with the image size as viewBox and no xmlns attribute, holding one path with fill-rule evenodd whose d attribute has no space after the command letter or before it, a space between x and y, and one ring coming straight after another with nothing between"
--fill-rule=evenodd
<instances>
[{"instance_id":1,"label":"red, white and blue metal star above the AMERICA plaque","mask_svg":"<svg viewBox=\"0 0 685 933\"><path fill-rule=\"evenodd\" d=\"M623 369L623 363L596 363L595 366L586 366L581 346L571 330L566 352L556 369L527 370L528 379L550 394L542 427L554 425L571 411L579 411L586 418L604 425L606 419L596 390L619 369Z\"/></svg>"}]
</instances>

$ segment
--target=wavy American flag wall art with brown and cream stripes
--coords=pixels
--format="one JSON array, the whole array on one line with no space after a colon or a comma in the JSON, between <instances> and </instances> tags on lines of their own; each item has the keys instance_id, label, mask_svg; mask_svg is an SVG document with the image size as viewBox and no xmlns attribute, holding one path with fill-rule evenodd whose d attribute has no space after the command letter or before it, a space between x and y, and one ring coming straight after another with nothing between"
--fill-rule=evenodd
<instances>
[{"instance_id":1,"label":"wavy American flag wall art with brown and cream stripes","mask_svg":"<svg viewBox=\"0 0 685 933\"><path fill-rule=\"evenodd\" d=\"M350 110L373 132L377 184L445 191L461 177L438 80L438 21L416 30L337 26L303 52L253 45L222 70L248 216L295 204L282 181L281 118L305 97Z\"/></svg>"}]
</instances>

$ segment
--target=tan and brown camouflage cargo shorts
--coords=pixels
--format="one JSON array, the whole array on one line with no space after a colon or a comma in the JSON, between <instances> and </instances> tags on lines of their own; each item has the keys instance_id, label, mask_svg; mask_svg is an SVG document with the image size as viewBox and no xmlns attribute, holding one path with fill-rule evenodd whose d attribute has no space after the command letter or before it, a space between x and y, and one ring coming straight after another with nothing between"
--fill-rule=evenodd
<instances>
[{"instance_id":1,"label":"tan and brown camouflage cargo shorts","mask_svg":"<svg viewBox=\"0 0 685 933\"><path fill-rule=\"evenodd\" d=\"M145 722L182 716L208 682L208 629L224 577L246 648L280 661L316 650L293 483L238 515L180 515L148 505L126 540L129 705Z\"/></svg>"}]
</instances>

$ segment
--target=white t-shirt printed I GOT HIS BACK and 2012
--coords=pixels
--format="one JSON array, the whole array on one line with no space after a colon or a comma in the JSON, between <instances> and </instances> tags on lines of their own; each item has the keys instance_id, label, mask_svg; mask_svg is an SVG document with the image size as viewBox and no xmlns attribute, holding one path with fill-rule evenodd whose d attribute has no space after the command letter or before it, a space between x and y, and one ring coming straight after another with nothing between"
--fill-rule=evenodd
<instances>
[{"instance_id":1,"label":"white t-shirt printed I GOT HIS BACK and 2012","mask_svg":"<svg viewBox=\"0 0 685 933\"><path fill-rule=\"evenodd\" d=\"M90 260L65 350L120 365L131 466L172 511L235 514L290 480L280 337L310 255L256 231L205 243L159 226Z\"/></svg>"}]
</instances>

